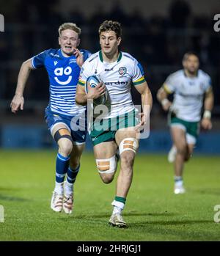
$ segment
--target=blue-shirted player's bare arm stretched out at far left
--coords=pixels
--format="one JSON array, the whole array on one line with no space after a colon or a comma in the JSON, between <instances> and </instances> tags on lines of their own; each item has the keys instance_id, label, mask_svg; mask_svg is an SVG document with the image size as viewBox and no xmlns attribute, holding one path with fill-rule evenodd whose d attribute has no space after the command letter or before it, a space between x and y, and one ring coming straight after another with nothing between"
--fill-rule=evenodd
<instances>
[{"instance_id":1,"label":"blue-shirted player's bare arm stretched out at far left","mask_svg":"<svg viewBox=\"0 0 220 256\"><path fill-rule=\"evenodd\" d=\"M23 62L21 65L21 69L18 74L18 83L15 90L15 96L12 98L12 102L10 104L12 113L16 113L19 109L23 110L23 90L32 69L34 69L32 67L32 59L26 60L26 62Z\"/></svg>"}]
</instances>

